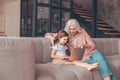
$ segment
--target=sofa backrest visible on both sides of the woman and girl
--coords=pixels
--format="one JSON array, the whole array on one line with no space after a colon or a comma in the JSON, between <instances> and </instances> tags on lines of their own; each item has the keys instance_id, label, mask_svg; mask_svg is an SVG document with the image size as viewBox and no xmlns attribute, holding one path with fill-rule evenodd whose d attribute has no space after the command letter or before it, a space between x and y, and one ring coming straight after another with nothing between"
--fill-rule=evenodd
<instances>
[{"instance_id":1,"label":"sofa backrest visible on both sides of the woman and girl","mask_svg":"<svg viewBox=\"0 0 120 80\"><path fill-rule=\"evenodd\" d=\"M31 38L36 47L36 63L51 61L51 42L45 37ZM120 53L120 39L115 38L93 38L97 49L105 56Z\"/></svg>"}]
</instances>

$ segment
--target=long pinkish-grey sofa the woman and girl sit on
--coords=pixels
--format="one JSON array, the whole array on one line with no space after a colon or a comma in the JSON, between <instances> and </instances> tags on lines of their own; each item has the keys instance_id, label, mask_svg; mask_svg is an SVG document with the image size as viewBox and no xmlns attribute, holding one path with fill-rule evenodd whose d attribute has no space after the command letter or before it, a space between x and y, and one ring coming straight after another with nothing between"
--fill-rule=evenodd
<instances>
[{"instance_id":1,"label":"long pinkish-grey sofa the woman and girl sit on","mask_svg":"<svg viewBox=\"0 0 120 80\"><path fill-rule=\"evenodd\" d=\"M120 39L93 40L120 80ZM0 80L102 80L97 70L51 64L50 46L44 37L0 37Z\"/></svg>"}]
</instances>

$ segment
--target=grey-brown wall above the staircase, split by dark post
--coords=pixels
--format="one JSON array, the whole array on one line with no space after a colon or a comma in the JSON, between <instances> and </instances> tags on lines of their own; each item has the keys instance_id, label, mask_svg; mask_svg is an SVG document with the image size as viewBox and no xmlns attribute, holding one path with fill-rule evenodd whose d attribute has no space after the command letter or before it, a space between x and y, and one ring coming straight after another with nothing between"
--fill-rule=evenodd
<instances>
[{"instance_id":1,"label":"grey-brown wall above the staircase, split by dark post","mask_svg":"<svg viewBox=\"0 0 120 80\"><path fill-rule=\"evenodd\" d=\"M74 0L88 11L92 11L92 1ZM98 17L120 31L120 0L98 0Z\"/></svg>"}]
</instances>

